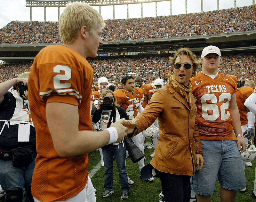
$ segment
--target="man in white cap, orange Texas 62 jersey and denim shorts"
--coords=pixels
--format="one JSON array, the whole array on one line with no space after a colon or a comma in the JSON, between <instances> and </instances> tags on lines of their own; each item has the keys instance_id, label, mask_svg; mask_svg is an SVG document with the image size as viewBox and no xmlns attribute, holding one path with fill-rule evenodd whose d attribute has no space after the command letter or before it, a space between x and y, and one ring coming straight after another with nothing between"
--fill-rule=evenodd
<instances>
[{"instance_id":1,"label":"man in white cap, orange Texas 62 jersey and denim shorts","mask_svg":"<svg viewBox=\"0 0 256 202\"><path fill-rule=\"evenodd\" d=\"M198 202L210 202L218 176L220 201L231 202L237 191L246 187L241 157L246 143L236 105L237 83L231 77L218 74L221 62L218 47L205 47L199 62L202 71L192 77L191 82L197 99L196 120L204 166L192 176L191 190L196 192Z\"/></svg>"}]
</instances>

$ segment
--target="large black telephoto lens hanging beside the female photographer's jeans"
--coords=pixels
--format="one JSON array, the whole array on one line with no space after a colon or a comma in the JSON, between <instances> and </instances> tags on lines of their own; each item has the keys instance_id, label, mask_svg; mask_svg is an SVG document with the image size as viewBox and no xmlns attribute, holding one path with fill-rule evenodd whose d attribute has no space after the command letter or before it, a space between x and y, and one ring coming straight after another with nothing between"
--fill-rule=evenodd
<instances>
[{"instance_id":1,"label":"large black telephoto lens hanging beside the female photographer's jeans","mask_svg":"<svg viewBox=\"0 0 256 202\"><path fill-rule=\"evenodd\" d=\"M124 137L124 143L133 163L137 163L144 158L142 151L140 151L140 149L131 141L131 139Z\"/></svg>"}]
</instances>

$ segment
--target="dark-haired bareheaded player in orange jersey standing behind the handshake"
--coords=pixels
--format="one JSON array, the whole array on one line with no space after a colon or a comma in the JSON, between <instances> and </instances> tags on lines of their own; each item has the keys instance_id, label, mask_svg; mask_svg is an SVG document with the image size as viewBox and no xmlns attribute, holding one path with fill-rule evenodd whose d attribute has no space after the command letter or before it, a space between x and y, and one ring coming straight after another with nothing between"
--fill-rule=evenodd
<instances>
[{"instance_id":1,"label":"dark-haired bareheaded player in orange jersey standing behind the handshake","mask_svg":"<svg viewBox=\"0 0 256 202\"><path fill-rule=\"evenodd\" d=\"M134 119L138 112L143 111L143 107L141 105L141 99L144 96L143 90L134 87L134 79L132 76L124 76L122 78L122 84L123 84L123 90L115 90L114 94L117 99L117 103L124 108L126 111L128 117L130 120ZM140 151L144 153L144 137L143 134L140 133L136 135L134 138L132 138L132 141L135 143L135 145L140 148ZM139 169L141 170L145 164L144 164L144 158L141 159L139 162ZM154 180L153 177L148 179L148 182L152 182Z\"/></svg>"}]
</instances>

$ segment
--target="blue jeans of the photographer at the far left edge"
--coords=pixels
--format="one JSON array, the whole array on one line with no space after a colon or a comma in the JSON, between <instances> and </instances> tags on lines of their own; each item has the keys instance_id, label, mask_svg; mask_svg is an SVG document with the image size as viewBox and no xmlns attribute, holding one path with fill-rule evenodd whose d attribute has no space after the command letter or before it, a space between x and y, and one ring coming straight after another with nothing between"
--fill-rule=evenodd
<instances>
[{"instance_id":1,"label":"blue jeans of the photographer at the far left edge","mask_svg":"<svg viewBox=\"0 0 256 202\"><path fill-rule=\"evenodd\" d=\"M0 184L4 191L25 188L25 202L31 202L31 181L35 168L36 153L33 162L25 167L13 167L12 160L0 160Z\"/></svg>"}]
</instances>

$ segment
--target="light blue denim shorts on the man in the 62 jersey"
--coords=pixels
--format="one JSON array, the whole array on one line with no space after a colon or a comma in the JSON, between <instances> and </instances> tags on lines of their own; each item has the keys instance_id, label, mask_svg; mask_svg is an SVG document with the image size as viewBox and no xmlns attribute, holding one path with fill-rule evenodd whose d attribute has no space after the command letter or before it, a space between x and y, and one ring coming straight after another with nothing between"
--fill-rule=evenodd
<instances>
[{"instance_id":1,"label":"light blue denim shorts on the man in the 62 jersey","mask_svg":"<svg viewBox=\"0 0 256 202\"><path fill-rule=\"evenodd\" d=\"M242 156L234 140L201 140L204 164L191 177L191 190L209 196L218 177L224 189L238 191L246 187Z\"/></svg>"}]
</instances>

